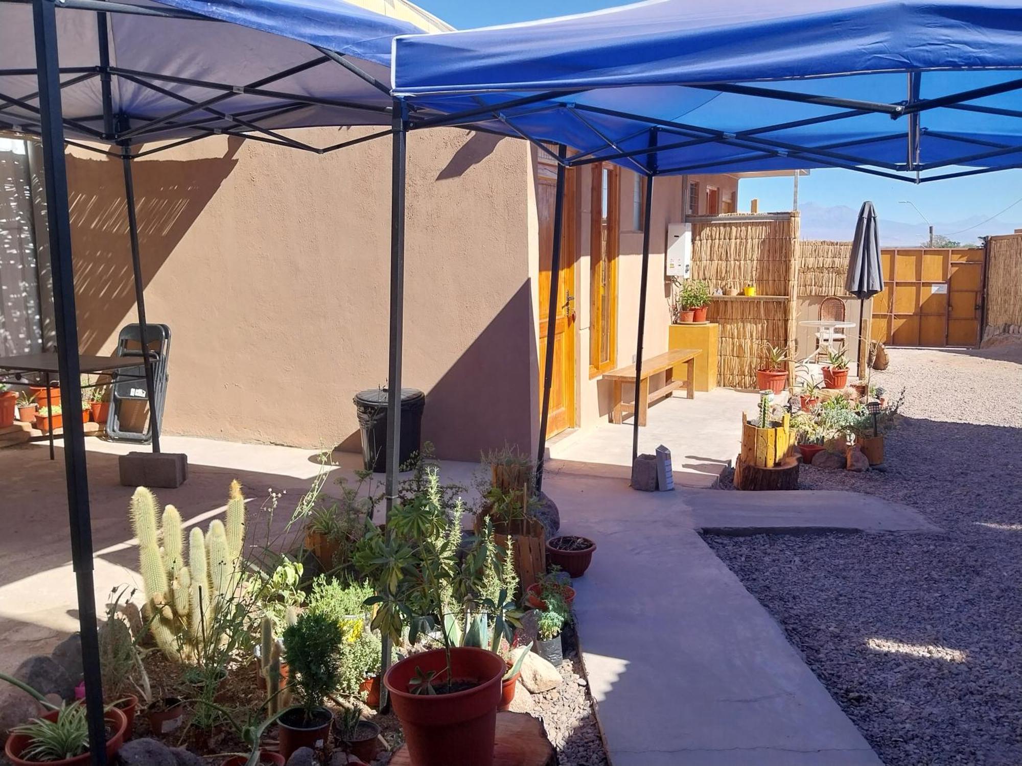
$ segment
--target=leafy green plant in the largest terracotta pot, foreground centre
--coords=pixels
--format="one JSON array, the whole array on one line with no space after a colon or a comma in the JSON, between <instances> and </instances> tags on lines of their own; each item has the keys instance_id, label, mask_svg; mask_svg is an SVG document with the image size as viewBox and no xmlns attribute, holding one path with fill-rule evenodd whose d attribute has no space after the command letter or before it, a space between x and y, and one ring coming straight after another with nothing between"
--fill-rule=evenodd
<instances>
[{"instance_id":1,"label":"leafy green plant in the largest terracotta pot, foreground centre","mask_svg":"<svg viewBox=\"0 0 1022 766\"><path fill-rule=\"evenodd\" d=\"M496 614L496 634L507 627L507 605L486 604L480 591L499 567L506 571L506 554L501 562L489 519L483 535L462 552L464 507L458 499L448 508L444 497L430 469L426 487L393 507L385 536L367 525L356 564L375 584L376 594L366 601L376 610L372 628L394 641L407 629L411 644L438 633L443 644L402 660L383 676L412 763L491 766L507 666L478 647L485 645L484 610Z\"/></svg>"}]
</instances>

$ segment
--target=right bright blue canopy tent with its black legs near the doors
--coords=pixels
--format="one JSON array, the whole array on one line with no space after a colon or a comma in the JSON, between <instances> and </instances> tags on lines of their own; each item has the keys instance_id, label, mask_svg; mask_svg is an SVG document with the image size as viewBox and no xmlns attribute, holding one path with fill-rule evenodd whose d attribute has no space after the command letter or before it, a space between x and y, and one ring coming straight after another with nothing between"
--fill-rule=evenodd
<instances>
[{"instance_id":1,"label":"right bright blue canopy tent with its black legs near the doors","mask_svg":"<svg viewBox=\"0 0 1022 766\"><path fill-rule=\"evenodd\" d=\"M656 176L844 167L920 183L1022 166L1020 33L1018 0L649 0L398 37L392 86L396 104L423 117L406 129L526 139L558 161L559 181L600 161L647 177L638 379ZM555 281L550 321L556 294Z\"/></svg>"}]
</instances>

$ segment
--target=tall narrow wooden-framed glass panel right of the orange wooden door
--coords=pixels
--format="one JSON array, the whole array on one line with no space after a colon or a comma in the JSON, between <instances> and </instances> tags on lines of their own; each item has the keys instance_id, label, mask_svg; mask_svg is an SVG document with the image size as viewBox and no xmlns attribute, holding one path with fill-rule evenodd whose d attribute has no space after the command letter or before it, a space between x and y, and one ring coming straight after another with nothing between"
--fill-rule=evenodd
<instances>
[{"instance_id":1,"label":"tall narrow wooden-framed glass panel right of the orange wooden door","mask_svg":"<svg viewBox=\"0 0 1022 766\"><path fill-rule=\"evenodd\" d=\"M620 231L620 169L591 165L589 375L617 366L617 252Z\"/></svg>"}]
</instances>

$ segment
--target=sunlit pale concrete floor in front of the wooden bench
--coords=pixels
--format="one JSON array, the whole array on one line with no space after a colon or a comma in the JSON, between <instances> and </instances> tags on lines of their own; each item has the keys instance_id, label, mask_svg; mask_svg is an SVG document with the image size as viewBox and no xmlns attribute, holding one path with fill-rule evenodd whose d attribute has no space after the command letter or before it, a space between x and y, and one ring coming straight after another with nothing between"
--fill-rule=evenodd
<instances>
[{"instance_id":1,"label":"sunlit pale concrete floor in front of the wooden bench","mask_svg":"<svg viewBox=\"0 0 1022 766\"><path fill-rule=\"evenodd\" d=\"M753 413L758 395L730 388L697 391L694 399L675 392L649 409L639 429L639 451L663 444L671 453L675 484L712 487L742 437L742 412ZM570 431L549 444L553 471L628 479L632 475L632 419L614 425L606 419L595 428Z\"/></svg>"}]
</instances>

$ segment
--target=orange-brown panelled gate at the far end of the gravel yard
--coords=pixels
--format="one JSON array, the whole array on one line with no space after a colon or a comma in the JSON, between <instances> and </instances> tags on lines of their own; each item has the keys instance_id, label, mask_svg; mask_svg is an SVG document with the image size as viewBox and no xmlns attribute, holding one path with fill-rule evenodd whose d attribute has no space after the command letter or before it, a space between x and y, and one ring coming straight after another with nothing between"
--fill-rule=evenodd
<instances>
[{"instance_id":1,"label":"orange-brown panelled gate at the far end of the gravel yard","mask_svg":"<svg viewBox=\"0 0 1022 766\"><path fill-rule=\"evenodd\" d=\"M890 346L977 346L983 316L982 247L884 248L884 291L872 337Z\"/></svg>"}]
</instances>

